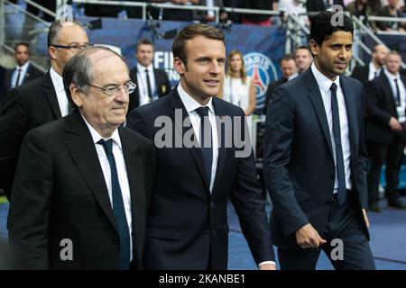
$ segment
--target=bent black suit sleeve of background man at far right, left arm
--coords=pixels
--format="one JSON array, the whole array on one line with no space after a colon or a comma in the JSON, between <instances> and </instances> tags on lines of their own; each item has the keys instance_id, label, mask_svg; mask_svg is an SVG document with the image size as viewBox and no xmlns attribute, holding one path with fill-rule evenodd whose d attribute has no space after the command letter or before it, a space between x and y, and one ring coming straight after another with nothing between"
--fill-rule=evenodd
<instances>
[{"instance_id":1,"label":"bent black suit sleeve of background man at far right, left arm","mask_svg":"<svg viewBox=\"0 0 406 288\"><path fill-rule=\"evenodd\" d=\"M379 79L377 79L379 80ZM384 127L388 127L389 129L389 120L391 119L392 115L388 112L385 112L380 107L380 87L378 82L374 80L368 85L367 89L367 111L368 119L370 121L374 121L375 123L382 125Z\"/></svg>"}]
</instances>

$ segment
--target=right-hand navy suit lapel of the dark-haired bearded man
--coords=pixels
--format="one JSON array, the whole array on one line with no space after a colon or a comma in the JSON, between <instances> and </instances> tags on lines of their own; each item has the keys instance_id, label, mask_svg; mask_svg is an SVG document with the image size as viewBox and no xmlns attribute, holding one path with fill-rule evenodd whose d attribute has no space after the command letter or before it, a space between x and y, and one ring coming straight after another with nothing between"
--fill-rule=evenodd
<instances>
[{"instance_id":1,"label":"right-hand navy suit lapel of the dark-haired bearded man","mask_svg":"<svg viewBox=\"0 0 406 288\"><path fill-rule=\"evenodd\" d=\"M356 112L356 98L353 91L349 88L346 76L340 76L340 86L343 90L344 99L346 102L346 119L348 122L348 135L351 147L351 155L357 155L358 153L358 123ZM364 116L363 116L364 117ZM353 163L351 161L351 163Z\"/></svg>"}]
</instances>

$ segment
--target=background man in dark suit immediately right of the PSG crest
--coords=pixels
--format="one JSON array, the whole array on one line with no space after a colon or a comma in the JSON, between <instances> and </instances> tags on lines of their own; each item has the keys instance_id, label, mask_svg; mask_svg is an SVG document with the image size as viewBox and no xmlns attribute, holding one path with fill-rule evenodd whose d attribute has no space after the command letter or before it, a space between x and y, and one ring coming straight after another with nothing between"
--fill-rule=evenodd
<instances>
[{"instance_id":1,"label":"background man in dark suit immediately right of the PSG crest","mask_svg":"<svg viewBox=\"0 0 406 288\"><path fill-rule=\"evenodd\" d=\"M281 79L273 81L266 90L265 103L263 106L264 114L266 114L266 111L268 109L268 104L271 100L273 91L275 91L275 89L283 83L286 83L294 77L298 76L298 67L296 66L295 58L292 54L287 54L281 59L281 73Z\"/></svg>"}]
</instances>

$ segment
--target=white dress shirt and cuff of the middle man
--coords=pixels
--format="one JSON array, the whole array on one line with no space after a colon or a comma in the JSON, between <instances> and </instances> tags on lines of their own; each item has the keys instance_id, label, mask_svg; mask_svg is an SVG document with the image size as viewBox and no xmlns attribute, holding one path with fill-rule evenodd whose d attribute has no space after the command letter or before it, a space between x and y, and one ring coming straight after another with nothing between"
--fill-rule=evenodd
<instances>
[{"instance_id":1,"label":"white dress shirt and cuff of the middle man","mask_svg":"<svg viewBox=\"0 0 406 288\"><path fill-rule=\"evenodd\" d=\"M178 85L178 94L180 95L180 100L186 108L186 111L189 114L190 122L192 124L193 130L195 131L195 136L200 143L200 116L196 109L202 107L200 103L194 100L186 91L182 88L181 85ZM215 182L216 172L217 172L217 160L218 160L218 138L217 138L217 121L216 114L213 108L213 99L210 97L206 107L208 107L208 120L210 121L212 127L212 141L213 141L213 163L211 165L211 178L210 178L210 193L213 191L213 186ZM265 264L272 264L276 266L273 261L263 261L259 266Z\"/></svg>"}]
</instances>

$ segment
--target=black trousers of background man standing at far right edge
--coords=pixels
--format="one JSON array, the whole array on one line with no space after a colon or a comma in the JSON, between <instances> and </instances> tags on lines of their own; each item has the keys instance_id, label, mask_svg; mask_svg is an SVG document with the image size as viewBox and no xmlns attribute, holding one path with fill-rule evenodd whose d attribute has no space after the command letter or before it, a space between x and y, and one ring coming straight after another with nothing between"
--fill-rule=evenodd
<instances>
[{"instance_id":1,"label":"black trousers of background man standing at far right edge","mask_svg":"<svg viewBox=\"0 0 406 288\"><path fill-rule=\"evenodd\" d=\"M399 197L398 191L401 161L403 159L405 134L396 133L389 144L368 141L368 154L371 158L368 171L368 201L379 201L379 179L383 164L385 168L385 193L389 200Z\"/></svg>"}]
</instances>

